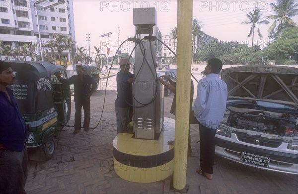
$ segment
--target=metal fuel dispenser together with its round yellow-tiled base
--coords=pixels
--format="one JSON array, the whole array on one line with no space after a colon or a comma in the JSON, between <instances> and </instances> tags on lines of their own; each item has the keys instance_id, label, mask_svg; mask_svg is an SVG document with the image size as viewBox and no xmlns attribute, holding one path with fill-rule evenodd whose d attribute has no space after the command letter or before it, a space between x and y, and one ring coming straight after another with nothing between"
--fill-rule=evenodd
<instances>
[{"instance_id":1,"label":"metal fuel dispenser together with its round yellow-tiled base","mask_svg":"<svg viewBox=\"0 0 298 194\"><path fill-rule=\"evenodd\" d=\"M128 40L135 43L135 133L118 133L114 138L114 170L127 181L152 183L173 173L174 146L167 141L174 140L175 121L163 117L164 86L157 81L155 70L156 10L150 7L133 11L136 36Z\"/></svg>"}]
</instances>

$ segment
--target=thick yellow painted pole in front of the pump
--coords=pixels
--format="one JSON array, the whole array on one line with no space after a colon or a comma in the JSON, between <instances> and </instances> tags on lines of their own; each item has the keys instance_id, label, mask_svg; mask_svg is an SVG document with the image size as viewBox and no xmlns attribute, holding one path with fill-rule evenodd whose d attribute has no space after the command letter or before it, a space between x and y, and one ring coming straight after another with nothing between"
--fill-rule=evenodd
<instances>
[{"instance_id":1,"label":"thick yellow painted pole in front of the pump","mask_svg":"<svg viewBox=\"0 0 298 194\"><path fill-rule=\"evenodd\" d=\"M193 0L178 0L177 5L177 84L173 186L176 190L182 190L186 185Z\"/></svg>"}]
</instances>

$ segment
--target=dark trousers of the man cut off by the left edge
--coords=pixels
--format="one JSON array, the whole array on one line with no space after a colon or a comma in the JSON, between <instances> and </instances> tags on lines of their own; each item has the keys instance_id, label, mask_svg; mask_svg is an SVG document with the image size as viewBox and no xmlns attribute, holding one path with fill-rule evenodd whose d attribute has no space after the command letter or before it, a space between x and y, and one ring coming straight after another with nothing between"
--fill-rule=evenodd
<instances>
[{"instance_id":1,"label":"dark trousers of the man cut off by the left edge","mask_svg":"<svg viewBox=\"0 0 298 194\"><path fill-rule=\"evenodd\" d=\"M26 145L21 152L0 149L0 194L26 194L27 165Z\"/></svg>"}]
</instances>

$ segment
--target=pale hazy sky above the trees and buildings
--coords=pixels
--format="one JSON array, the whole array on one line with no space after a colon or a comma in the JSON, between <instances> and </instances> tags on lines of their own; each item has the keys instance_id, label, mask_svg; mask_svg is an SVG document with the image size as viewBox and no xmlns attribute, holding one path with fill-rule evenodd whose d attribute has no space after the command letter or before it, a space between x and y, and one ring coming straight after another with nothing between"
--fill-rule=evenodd
<instances>
[{"instance_id":1,"label":"pale hazy sky above the trees and buildings","mask_svg":"<svg viewBox=\"0 0 298 194\"><path fill-rule=\"evenodd\" d=\"M201 21L201 30L220 41L238 41L251 46L249 34L250 24L241 24L248 21L246 14L259 7L262 16L274 14L271 2L276 0L193 0L193 18ZM94 46L101 47L106 54L109 43L110 54L115 55L120 44L135 35L133 25L133 8L155 7L157 27L162 35L169 35L171 28L177 26L177 0L73 0L75 39L78 47L88 50L87 35L90 34L90 50L95 52ZM265 19L265 18L263 18ZM262 19L262 20L263 20ZM297 23L297 18L293 18ZM254 44L261 48L268 42L268 28L272 23L257 25L263 35L261 40L257 33ZM101 35L112 32L109 37ZM120 34L118 34L120 32ZM121 52L131 53L133 43L126 44ZM95 57L94 54L91 54Z\"/></svg>"}]
</instances>

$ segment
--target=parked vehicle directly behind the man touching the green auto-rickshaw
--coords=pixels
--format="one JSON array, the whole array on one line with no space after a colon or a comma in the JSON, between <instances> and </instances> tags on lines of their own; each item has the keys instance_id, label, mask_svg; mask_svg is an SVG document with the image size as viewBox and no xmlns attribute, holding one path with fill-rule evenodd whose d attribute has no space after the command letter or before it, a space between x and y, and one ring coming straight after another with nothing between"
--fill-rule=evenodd
<instances>
[{"instance_id":1,"label":"parked vehicle directly behind the man touching the green auto-rickshaw","mask_svg":"<svg viewBox=\"0 0 298 194\"><path fill-rule=\"evenodd\" d=\"M97 67L96 64L91 64L91 65L86 65L86 64L82 64L82 66L84 67L84 74L91 76L92 78L94 78L94 80L97 83L96 89L98 88L98 84L99 84L99 68ZM70 78L76 74L76 70L75 70L76 65L69 65L66 68L66 73L67 73L67 77ZM70 85L71 88L71 93L74 93L74 85Z\"/></svg>"}]
</instances>

